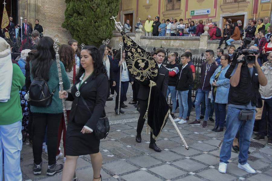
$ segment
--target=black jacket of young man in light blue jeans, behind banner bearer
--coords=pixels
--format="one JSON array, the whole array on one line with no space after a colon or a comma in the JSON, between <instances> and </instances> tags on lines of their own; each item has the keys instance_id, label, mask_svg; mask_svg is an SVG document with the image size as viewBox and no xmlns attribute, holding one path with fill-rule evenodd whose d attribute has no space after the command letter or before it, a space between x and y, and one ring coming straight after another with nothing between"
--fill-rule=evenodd
<instances>
[{"instance_id":1,"label":"black jacket of young man in light blue jeans, behind banner bearer","mask_svg":"<svg viewBox=\"0 0 272 181\"><path fill-rule=\"evenodd\" d=\"M189 90L189 85L193 83L193 73L189 65L186 65L185 68L180 68L178 74L179 80L176 83L176 90Z\"/></svg>"}]
</instances>

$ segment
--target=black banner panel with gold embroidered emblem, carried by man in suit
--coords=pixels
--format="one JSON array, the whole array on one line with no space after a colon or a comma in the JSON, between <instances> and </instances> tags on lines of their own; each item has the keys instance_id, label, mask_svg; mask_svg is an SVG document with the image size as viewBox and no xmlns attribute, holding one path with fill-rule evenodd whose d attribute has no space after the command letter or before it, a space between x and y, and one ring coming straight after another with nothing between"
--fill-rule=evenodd
<instances>
[{"instance_id":1,"label":"black banner panel with gold embroidered emblem, carried by man in suit","mask_svg":"<svg viewBox=\"0 0 272 181\"><path fill-rule=\"evenodd\" d=\"M126 62L128 70L134 78L149 84L158 75L158 65L155 60L140 46L134 43L126 34L122 34L125 43Z\"/></svg>"}]
</instances>

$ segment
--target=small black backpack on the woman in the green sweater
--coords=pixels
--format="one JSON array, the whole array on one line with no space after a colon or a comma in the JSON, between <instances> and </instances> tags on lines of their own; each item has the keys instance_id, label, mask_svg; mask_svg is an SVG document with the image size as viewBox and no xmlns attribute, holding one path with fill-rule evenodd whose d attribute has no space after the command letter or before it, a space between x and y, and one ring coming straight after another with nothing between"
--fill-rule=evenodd
<instances>
[{"instance_id":1,"label":"small black backpack on the woman in the green sweater","mask_svg":"<svg viewBox=\"0 0 272 181\"><path fill-rule=\"evenodd\" d=\"M29 87L28 99L31 106L46 107L52 102L55 89L50 94L47 82L42 78L34 78Z\"/></svg>"}]
</instances>

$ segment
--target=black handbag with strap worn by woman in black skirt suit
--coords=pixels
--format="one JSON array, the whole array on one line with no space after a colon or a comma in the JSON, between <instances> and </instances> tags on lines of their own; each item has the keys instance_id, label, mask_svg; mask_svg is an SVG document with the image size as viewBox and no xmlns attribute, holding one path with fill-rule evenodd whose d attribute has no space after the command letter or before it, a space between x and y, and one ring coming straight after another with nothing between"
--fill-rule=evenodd
<instances>
[{"instance_id":1,"label":"black handbag with strap worn by woman in black skirt suit","mask_svg":"<svg viewBox=\"0 0 272 181\"><path fill-rule=\"evenodd\" d=\"M82 101L84 105L86 106L87 110L92 114L84 98L82 96L80 97L82 98ZM96 123L96 127L93 130L93 133L96 139L105 139L108 136L109 130L110 130L110 126L109 126L108 118L105 116L103 118L98 119Z\"/></svg>"}]
</instances>

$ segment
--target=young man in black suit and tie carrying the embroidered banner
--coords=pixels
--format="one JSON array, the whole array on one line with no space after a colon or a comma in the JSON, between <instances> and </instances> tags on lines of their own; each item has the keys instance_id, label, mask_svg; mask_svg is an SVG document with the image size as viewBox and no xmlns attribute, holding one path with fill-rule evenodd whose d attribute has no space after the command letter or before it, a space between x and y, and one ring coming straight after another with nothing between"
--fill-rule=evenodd
<instances>
[{"instance_id":1,"label":"young man in black suit and tie carrying the embroidered banner","mask_svg":"<svg viewBox=\"0 0 272 181\"><path fill-rule=\"evenodd\" d=\"M166 97L167 93L167 87L168 87L168 78L169 78L169 71L167 68L165 68L162 65L162 62L164 61L166 53L165 50L162 48L157 49L154 52L155 61L157 62L159 66L159 77L156 81L157 87L161 90L164 97ZM144 127L144 114L147 110L147 104L148 104L148 97L149 97L149 90L150 87L148 85L142 85L140 84L139 93L138 93L138 99L140 100L140 117L138 119L138 125L137 125L137 135L136 135L136 141L138 143L141 143L141 132ZM154 138L152 137L152 133L150 134L150 144L149 148L154 149L154 151L161 152L161 149L157 147Z\"/></svg>"}]
</instances>

